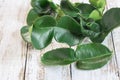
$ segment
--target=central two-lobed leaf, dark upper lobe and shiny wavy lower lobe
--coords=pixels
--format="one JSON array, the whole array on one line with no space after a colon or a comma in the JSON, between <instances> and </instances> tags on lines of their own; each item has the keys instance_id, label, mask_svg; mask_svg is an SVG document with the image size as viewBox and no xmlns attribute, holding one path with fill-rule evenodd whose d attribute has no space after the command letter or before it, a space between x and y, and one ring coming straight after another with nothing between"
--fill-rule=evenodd
<instances>
[{"instance_id":1,"label":"central two-lobed leaf, dark upper lobe and shiny wavy lower lobe","mask_svg":"<svg viewBox=\"0 0 120 80\"><path fill-rule=\"evenodd\" d=\"M69 46L79 44L84 38L79 23L70 16L61 17L54 32L56 41L67 43Z\"/></svg>"}]
</instances>

